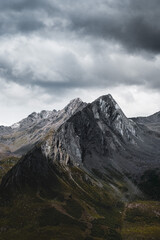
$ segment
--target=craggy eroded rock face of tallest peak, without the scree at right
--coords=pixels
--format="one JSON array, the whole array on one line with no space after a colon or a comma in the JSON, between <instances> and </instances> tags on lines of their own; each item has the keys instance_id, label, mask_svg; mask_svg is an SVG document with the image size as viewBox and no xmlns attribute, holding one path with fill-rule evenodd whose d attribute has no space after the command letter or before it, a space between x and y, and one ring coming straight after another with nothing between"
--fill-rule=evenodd
<instances>
[{"instance_id":1,"label":"craggy eroded rock face of tallest peak, without the scree at right","mask_svg":"<svg viewBox=\"0 0 160 240\"><path fill-rule=\"evenodd\" d=\"M66 121L54 134L53 161L103 169L125 143L140 141L138 126L127 119L110 95L103 96Z\"/></svg>"}]
</instances>

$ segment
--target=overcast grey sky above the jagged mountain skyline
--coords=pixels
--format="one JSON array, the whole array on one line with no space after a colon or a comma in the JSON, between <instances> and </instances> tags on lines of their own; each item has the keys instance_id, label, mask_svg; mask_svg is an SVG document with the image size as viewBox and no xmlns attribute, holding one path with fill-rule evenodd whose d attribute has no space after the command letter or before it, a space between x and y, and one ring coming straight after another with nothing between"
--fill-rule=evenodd
<instances>
[{"instance_id":1,"label":"overcast grey sky above the jagged mountain skyline","mask_svg":"<svg viewBox=\"0 0 160 240\"><path fill-rule=\"evenodd\" d=\"M0 125L112 94L160 111L159 0L1 0Z\"/></svg>"}]
</instances>

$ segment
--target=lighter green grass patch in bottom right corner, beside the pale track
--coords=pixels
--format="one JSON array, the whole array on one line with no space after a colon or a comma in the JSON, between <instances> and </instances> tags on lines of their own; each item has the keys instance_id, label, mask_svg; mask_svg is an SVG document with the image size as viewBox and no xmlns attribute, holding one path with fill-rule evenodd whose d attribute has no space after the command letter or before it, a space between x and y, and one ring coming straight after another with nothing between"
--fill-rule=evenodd
<instances>
[{"instance_id":1,"label":"lighter green grass patch in bottom right corner, beside the pale track","mask_svg":"<svg viewBox=\"0 0 160 240\"><path fill-rule=\"evenodd\" d=\"M124 240L159 240L160 202L137 201L126 205L122 236Z\"/></svg>"}]
</instances>

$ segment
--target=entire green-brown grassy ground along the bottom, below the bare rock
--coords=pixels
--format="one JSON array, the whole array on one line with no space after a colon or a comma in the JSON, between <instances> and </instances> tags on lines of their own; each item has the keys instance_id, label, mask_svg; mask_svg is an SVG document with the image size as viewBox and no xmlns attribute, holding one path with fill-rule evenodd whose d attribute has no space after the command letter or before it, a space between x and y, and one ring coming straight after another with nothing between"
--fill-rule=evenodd
<instances>
[{"instance_id":1,"label":"entire green-brown grassy ground along the bottom, below the bare rock","mask_svg":"<svg viewBox=\"0 0 160 240\"><path fill-rule=\"evenodd\" d=\"M1 161L0 177L17 161ZM160 203L124 205L113 189L82 170L57 166L52 192L18 195L0 201L0 240L159 240ZM120 182L119 182L120 184Z\"/></svg>"}]
</instances>

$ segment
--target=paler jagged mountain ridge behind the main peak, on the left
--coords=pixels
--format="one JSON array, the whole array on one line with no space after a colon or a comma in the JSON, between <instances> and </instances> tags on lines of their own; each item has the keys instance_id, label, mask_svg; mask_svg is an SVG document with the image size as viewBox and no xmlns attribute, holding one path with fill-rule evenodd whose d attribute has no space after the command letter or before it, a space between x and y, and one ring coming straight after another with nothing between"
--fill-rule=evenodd
<instances>
[{"instance_id":1,"label":"paler jagged mountain ridge behind the main peak, on the left","mask_svg":"<svg viewBox=\"0 0 160 240\"><path fill-rule=\"evenodd\" d=\"M42 140L51 128L57 129L72 114L85 106L86 103L77 98L60 111L33 112L10 127L0 126L0 159L25 154Z\"/></svg>"}]
</instances>

